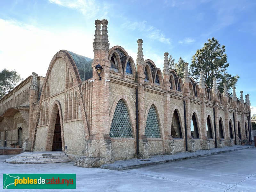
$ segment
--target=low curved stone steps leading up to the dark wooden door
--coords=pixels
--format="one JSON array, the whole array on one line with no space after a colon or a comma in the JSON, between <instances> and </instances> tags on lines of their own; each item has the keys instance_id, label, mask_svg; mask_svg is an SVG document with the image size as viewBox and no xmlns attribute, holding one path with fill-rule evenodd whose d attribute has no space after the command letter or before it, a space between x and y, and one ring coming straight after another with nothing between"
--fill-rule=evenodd
<instances>
[{"instance_id":1,"label":"low curved stone steps leading up to the dark wooden door","mask_svg":"<svg viewBox=\"0 0 256 192\"><path fill-rule=\"evenodd\" d=\"M5 161L12 164L42 164L69 162L71 159L61 151L32 151L21 153Z\"/></svg>"}]
</instances>

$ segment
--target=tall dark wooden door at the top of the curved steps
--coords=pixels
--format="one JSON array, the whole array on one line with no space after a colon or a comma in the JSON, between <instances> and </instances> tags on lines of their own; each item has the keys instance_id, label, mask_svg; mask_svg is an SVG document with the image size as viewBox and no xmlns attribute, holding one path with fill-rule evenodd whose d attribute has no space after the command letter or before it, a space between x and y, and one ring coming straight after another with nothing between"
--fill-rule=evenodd
<instances>
[{"instance_id":1,"label":"tall dark wooden door at the top of the curved steps","mask_svg":"<svg viewBox=\"0 0 256 192\"><path fill-rule=\"evenodd\" d=\"M52 141L52 151L62 151L62 140L61 140L61 126L60 126L60 113L58 111L55 129Z\"/></svg>"}]
</instances>

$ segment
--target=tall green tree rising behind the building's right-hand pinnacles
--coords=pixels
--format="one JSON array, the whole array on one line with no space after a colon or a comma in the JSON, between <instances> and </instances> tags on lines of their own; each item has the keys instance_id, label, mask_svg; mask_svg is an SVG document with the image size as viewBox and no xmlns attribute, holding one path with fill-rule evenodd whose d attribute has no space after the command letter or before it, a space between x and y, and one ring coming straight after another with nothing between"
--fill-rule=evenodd
<instances>
[{"instance_id":1,"label":"tall green tree rising behind the building's right-hand pinnacles","mask_svg":"<svg viewBox=\"0 0 256 192\"><path fill-rule=\"evenodd\" d=\"M223 92L223 83L227 83L227 90L230 92L231 88L236 85L239 76L232 76L227 73L229 64L225 52L225 46L220 45L218 40L214 39L214 37L208 39L204 47L197 50L192 57L190 72L194 79L198 81L200 71L203 70L205 83L209 88L212 88L212 79L216 77L219 91Z\"/></svg>"}]
</instances>

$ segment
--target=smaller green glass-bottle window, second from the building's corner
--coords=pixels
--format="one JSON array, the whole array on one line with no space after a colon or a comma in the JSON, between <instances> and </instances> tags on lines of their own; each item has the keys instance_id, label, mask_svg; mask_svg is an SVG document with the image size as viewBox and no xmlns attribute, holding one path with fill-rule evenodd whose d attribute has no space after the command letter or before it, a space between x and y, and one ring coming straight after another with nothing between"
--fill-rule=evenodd
<instances>
[{"instance_id":1,"label":"smaller green glass-bottle window, second from the building's corner","mask_svg":"<svg viewBox=\"0 0 256 192\"><path fill-rule=\"evenodd\" d=\"M148 111L145 135L147 138L161 138L156 108L153 105Z\"/></svg>"}]
</instances>

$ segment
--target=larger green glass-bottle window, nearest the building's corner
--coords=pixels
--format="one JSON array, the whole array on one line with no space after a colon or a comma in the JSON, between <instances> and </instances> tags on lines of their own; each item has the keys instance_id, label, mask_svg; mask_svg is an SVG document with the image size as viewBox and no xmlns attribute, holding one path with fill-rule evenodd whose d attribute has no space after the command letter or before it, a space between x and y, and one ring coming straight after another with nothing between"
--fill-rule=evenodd
<instances>
[{"instance_id":1,"label":"larger green glass-bottle window, nearest the building's corner","mask_svg":"<svg viewBox=\"0 0 256 192\"><path fill-rule=\"evenodd\" d=\"M119 100L112 119L110 137L133 137L128 108L123 100Z\"/></svg>"}]
</instances>

